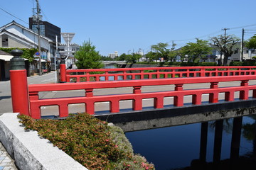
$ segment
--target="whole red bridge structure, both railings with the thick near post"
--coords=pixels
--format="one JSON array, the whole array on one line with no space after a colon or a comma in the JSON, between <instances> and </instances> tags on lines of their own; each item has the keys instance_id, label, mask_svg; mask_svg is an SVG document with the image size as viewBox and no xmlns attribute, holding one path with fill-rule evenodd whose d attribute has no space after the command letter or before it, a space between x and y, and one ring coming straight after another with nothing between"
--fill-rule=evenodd
<instances>
[{"instance_id":1,"label":"whole red bridge structure, both railings with the thick near post","mask_svg":"<svg viewBox=\"0 0 256 170\"><path fill-rule=\"evenodd\" d=\"M82 103L85 105L85 112L94 115L95 103L107 102L110 112L107 118L110 118L120 112L122 101L132 101L132 109L136 112L144 111L144 100L151 99L154 101L154 108L150 111L156 112L162 111L161 109L166 108L166 105L173 106L172 108L182 108L186 97L190 100L188 103L191 103L191 106L203 107L210 106L210 103L223 103L223 101L232 103L237 99L238 101L247 101L250 98L256 98L254 81L256 79L256 67L157 67L81 70L65 70L60 67L61 81L74 81L75 79L75 82L81 80L85 82L29 86L26 83L25 71L11 70L13 108L14 112L31 115L32 118L36 119L41 118L42 106L58 106L57 115L63 118L68 116L68 109L72 104ZM97 74L94 74L95 72ZM102 77L106 81L100 81ZM114 79L114 81L107 81L110 79ZM227 82L231 82L231 84L223 86ZM238 84L238 82L240 83ZM15 84L19 84L18 89ZM198 88L190 88L193 84L196 84ZM156 90L145 91L145 87L149 86L156 87ZM164 91L157 91L157 88L161 86L168 87L164 88ZM119 93L120 88L128 88L130 91L125 94ZM116 93L95 95L94 91L98 89L114 89ZM85 91L83 96L39 98L39 94L43 91L62 91L65 93L65 91L79 90ZM208 105L202 105L205 95L208 96ZM220 96L223 96L223 100ZM165 104L166 98L173 98L173 100ZM236 106L238 104L233 104L233 107ZM250 106L253 104L250 103ZM145 112L149 112L149 110Z\"/></svg>"}]
</instances>

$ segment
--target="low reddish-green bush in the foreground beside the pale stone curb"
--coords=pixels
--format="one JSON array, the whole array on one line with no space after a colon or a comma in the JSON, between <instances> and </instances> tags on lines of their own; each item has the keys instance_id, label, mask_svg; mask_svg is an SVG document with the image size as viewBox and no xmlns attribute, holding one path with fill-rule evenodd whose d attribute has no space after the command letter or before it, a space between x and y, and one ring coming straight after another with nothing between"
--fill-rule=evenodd
<instances>
[{"instance_id":1,"label":"low reddish-green bush in the foreground beside the pale stone curb","mask_svg":"<svg viewBox=\"0 0 256 170\"><path fill-rule=\"evenodd\" d=\"M64 120L33 120L27 115L18 118L26 130L37 130L41 137L87 169L154 169L153 164L133 154L121 129L87 113L70 115Z\"/></svg>"}]
</instances>

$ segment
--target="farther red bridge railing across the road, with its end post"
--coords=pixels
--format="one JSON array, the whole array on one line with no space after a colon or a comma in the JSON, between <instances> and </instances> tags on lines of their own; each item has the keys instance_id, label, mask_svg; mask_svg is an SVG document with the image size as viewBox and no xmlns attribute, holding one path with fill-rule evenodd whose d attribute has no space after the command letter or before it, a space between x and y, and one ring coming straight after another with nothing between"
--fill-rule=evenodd
<instances>
[{"instance_id":1,"label":"farther red bridge railing across the road, with its end post","mask_svg":"<svg viewBox=\"0 0 256 170\"><path fill-rule=\"evenodd\" d=\"M108 81L127 79L161 79L174 77L218 77L255 75L256 67L146 67L119 69L67 69L62 81Z\"/></svg>"}]
</instances>

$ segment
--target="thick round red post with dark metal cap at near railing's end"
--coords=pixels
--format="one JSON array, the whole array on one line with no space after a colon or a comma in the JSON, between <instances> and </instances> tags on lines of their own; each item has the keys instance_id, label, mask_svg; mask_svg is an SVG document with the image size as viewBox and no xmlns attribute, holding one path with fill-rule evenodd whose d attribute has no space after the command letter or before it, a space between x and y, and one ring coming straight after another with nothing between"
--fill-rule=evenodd
<instances>
[{"instance_id":1,"label":"thick round red post with dark metal cap at near railing's end","mask_svg":"<svg viewBox=\"0 0 256 170\"><path fill-rule=\"evenodd\" d=\"M14 113L21 115L29 114L28 104L28 80L25 69L24 59L21 58L23 51L12 50L14 57L10 60L10 82L11 82L11 101Z\"/></svg>"}]
</instances>

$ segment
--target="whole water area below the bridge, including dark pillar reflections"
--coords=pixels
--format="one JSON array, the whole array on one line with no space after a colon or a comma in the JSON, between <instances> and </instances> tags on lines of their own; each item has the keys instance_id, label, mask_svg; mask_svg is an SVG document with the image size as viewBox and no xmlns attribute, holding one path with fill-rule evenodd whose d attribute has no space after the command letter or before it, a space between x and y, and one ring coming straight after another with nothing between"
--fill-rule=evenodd
<instances>
[{"instance_id":1,"label":"whole water area below the bridge, including dark pillar reflections","mask_svg":"<svg viewBox=\"0 0 256 170\"><path fill-rule=\"evenodd\" d=\"M252 116L126 135L156 169L256 169Z\"/></svg>"}]
</instances>

